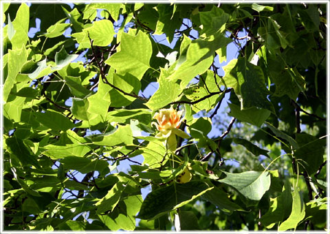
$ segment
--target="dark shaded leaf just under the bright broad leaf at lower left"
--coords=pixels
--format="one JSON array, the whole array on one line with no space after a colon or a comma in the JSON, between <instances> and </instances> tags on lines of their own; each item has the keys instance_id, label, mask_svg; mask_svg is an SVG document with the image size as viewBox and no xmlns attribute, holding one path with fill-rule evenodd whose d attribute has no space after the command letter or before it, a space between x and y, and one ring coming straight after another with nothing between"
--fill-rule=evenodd
<instances>
[{"instance_id":1,"label":"dark shaded leaf just under the bright broad leaf at lower left","mask_svg":"<svg viewBox=\"0 0 330 234\"><path fill-rule=\"evenodd\" d=\"M68 156L60 161L65 169L74 169L80 173L99 171L100 173L109 166L104 160Z\"/></svg>"}]
</instances>

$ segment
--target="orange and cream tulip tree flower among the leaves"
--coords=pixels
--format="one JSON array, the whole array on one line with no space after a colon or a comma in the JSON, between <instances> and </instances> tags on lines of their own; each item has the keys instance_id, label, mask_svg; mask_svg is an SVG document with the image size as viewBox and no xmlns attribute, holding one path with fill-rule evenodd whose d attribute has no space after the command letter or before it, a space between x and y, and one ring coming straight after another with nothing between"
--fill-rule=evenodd
<instances>
[{"instance_id":1,"label":"orange and cream tulip tree flower among the leaves","mask_svg":"<svg viewBox=\"0 0 330 234\"><path fill-rule=\"evenodd\" d=\"M160 109L159 112L153 116L157 123L153 122L152 125L157 127L159 133L156 137L164 137L167 138L167 147L171 151L175 151L177 149L177 138L175 135L181 138L189 138L189 135L184 131L179 129L182 122L183 111L176 111L173 107L170 109Z\"/></svg>"}]
</instances>

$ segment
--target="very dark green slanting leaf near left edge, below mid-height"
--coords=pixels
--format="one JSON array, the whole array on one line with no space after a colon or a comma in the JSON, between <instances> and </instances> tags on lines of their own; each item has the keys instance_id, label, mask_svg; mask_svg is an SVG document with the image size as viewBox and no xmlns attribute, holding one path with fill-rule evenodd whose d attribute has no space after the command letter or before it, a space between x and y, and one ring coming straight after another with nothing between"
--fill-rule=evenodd
<instances>
[{"instance_id":1,"label":"very dark green slanting leaf near left edge, below mid-height","mask_svg":"<svg viewBox=\"0 0 330 234\"><path fill-rule=\"evenodd\" d=\"M12 136L5 139L5 145L7 145L7 150L19 159L22 166L34 165L35 167L39 167L36 157L33 156L30 149L24 145L23 140Z\"/></svg>"}]
</instances>

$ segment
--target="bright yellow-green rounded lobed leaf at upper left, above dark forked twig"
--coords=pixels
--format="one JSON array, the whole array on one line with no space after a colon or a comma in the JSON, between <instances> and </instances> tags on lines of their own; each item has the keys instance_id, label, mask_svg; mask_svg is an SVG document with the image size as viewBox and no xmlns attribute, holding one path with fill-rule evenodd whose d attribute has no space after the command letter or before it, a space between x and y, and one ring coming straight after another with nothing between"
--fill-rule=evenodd
<instances>
[{"instance_id":1,"label":"bright yellow-green rounded lobed leaf at upper left, above dark forked twig","mask_svg":"<svg viewBox=\"0 0 330 234\"><path fill-rule=\"evenodd\" d=\"M100 21L94 21L93 25L83 29L83 32L72 34L79 43L78 49L91 47L88 35L93 40L94 46L108 46L111 44L115 35L113 24L107 19L102 19Z\"/></svg>"}]
</instances>

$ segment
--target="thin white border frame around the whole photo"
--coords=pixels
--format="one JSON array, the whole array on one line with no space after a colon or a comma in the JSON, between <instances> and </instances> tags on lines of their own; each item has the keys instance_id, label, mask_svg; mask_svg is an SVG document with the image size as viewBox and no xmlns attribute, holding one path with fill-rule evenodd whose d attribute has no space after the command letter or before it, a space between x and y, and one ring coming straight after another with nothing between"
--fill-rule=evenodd
<instances>
[{"instance_id":1,"label":"thin white border frame around the whole photo","mask_svg":"<svg viewBox=\"0 0 330 234\"><path fill-rule=\"evenodd\" d=\"M270 1L270 0L256 0L256 1L230 1L230 0L158 0L158 1L142 1L142 0L126 0L126 1L113 1L113 0L96 0L96 1L80 1L80 0L72 0L72 1L67 1L67 0L30 0L30 1L24 1L24 0L0 0L0 22L3 21L3 3L325 3L327 5L327 231L285 231L285 232L278 232L278 231L180 231L180 233L329 233L330 231L330 224L329 224L329 218L330 218L330 204L329 204L329 186L330 186L330 178L329 178L329 171L330 171L330 162L329 162L329 145L330 145L330 131L329 131L329 126L330 126L330 107L329 107L329 100L330 100L330 77L329 77L329 61L330 61L330 54L329 54L329 47L330 47L330 29L329 29L329 23L330 23L330 2L327 0L320 0L320 1L295 1L295 0L289 0L289 1ZM2 33L3 33L3 27L1 26L1 34L0 34L0 65L1 65L1 77L0 77L0 96L3 96L3 72L2 72L2 67L3 67L3 40L2 40ZM1 139L0 139L0 202L1 202L1 213L0 213L0 233L173 233L174 231L3 231L3 209L2 209L2 204L3 204L3 99L0 100L0 133L1 133Z\"/></svg>"}]
</instances>

